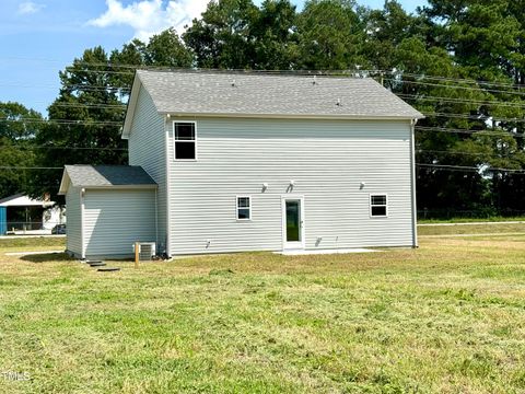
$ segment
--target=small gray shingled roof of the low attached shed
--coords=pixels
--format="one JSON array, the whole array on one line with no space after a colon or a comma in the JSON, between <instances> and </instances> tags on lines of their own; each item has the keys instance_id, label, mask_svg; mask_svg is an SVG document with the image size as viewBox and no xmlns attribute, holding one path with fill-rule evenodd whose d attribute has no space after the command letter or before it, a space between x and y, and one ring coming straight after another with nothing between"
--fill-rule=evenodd
<instances>
[{"instance_id":1,"label":"small gray shingled roof of the low attached shed","mask_svg":"<svg viewBox=\"0 0 525 394\"><path fill-rule=\"evenodd\" d=\"M66 172L80 187L156 185L138 165L66 165Z\"/></svg>"}]
</instances>

